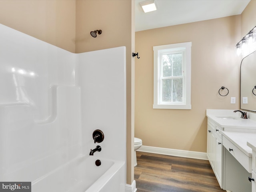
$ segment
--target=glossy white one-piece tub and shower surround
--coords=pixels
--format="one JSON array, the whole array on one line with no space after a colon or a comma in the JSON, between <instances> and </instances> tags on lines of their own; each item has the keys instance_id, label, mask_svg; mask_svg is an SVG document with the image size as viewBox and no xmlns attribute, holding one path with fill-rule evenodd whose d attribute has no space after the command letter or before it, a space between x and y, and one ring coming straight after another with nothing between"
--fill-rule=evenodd
<instances>
[{"instance_id":1,"label":"glossy white one-piece tub and shower surround","mask_svg":"<svg viewBox=\"0 0 256 192\"><path fill-rule=\"evenodd\" d=\"M0 24L0 90L0 181L74 191L96 173L79 191L125 191L125 47L74 54Z\"/></svg>"}]
</instances>

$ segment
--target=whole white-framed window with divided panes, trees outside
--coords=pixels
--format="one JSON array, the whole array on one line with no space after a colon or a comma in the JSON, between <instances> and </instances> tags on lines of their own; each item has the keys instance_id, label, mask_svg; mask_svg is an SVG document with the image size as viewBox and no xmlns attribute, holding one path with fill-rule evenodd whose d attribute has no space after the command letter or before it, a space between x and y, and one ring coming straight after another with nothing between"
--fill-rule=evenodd
<instances>
[{"instance_id":1,"label":"whole white-framed window with divided panes, trees outside","mask_svg":"<svg viewBox=\"0 0 256 192\"><path fill-rule=\"evenodd\" d=\"M154 109L191 109L191 42L154 46Z\"/></svg>"}]
</instances>

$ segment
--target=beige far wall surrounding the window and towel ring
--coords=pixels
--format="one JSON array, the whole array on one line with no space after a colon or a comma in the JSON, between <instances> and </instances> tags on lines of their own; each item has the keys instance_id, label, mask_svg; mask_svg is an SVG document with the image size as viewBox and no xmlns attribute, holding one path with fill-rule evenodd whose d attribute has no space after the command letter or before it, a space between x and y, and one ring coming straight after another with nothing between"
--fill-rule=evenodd
<instances>
[{"instance_id":1,"label":"beige far wall surrounding the window and towel ring","mask_svg":"<svg viewBox=\"0 0 256 192\"><path fill-rule=\"evenodd\" d=\"M206 152L206 109L239 108L240 23L237 15L135 33L135 137L143 145ZM181 42L192 42L192 109L153 109L153 46ZM218 94L222 86L228 96Z\"/></svg>"}]
</instances>

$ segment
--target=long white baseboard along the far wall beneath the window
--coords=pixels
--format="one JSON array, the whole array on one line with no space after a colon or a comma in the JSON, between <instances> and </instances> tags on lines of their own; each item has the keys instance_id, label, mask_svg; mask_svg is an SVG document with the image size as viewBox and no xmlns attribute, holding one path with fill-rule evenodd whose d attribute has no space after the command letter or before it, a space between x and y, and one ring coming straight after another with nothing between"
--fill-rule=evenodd
<instances>
[{"instance_id":1,"label":"long white baseboard along the far wall beneath the window","mask_svg":"<svg viewBox=\"0 0 256 192\"><path fill-rule=\"evenodd\" d=\"M177 149L151 147L151 146L143 146L143 145L137 151L208 160L206 153L196 152L196 151L177 150Z\"/></svg>"}]
</instances>

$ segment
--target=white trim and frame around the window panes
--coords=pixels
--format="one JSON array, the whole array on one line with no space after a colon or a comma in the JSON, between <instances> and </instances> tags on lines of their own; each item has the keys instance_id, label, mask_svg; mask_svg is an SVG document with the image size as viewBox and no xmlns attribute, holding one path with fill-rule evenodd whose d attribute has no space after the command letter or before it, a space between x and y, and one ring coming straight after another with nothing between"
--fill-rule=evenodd
<instances>
[{"instance_id":1,"label":"white trim and frame around the window panes","mask_svg":"<svg viewBox=\"0 0 256 192\"><path fill-rule=\"evenodd\" d=\"M161 46L154 46L154 109L191 109L191 46L192 42L185 42L185 43L177 43L177 44L169 44L169 45L161 45ZM164 52L166 49L178 49L178 48L186 48L185 50L185 63L184 63L184 76L186 88L184 89L186 99L184 102L177 102L177 103L168 103L162 102L159 103L158 93L159 93L159 54Z\"/></svg>"}]
</instances>

